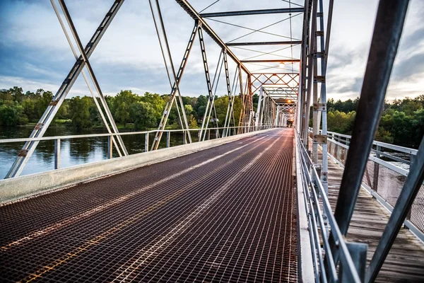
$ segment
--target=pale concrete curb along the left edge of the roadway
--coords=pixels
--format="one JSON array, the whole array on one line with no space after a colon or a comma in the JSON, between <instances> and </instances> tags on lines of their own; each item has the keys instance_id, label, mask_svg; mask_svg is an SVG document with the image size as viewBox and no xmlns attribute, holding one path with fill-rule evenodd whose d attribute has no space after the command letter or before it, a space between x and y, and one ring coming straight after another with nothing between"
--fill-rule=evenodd
<instances>
[{"instance_id":1,"label":"pale concrete curb along the left edge of the roadway","mask_svg":"<svg viewBox=\"0 0 424 283\"><path fill-rule=\"evenodd\" d=\"M192 154L196 151L210 149L215 146L227 144L228 142L237 141L238 139L243 139L245 137L252 137L255 134L261 134L272 130L273 129L264 129L257 132L237 134L235 136L224 137L221 139L211 139L209 141L201 141L193 144L172 146L158 151L148 151L141 154L133 154L131 156L123 156L54 171L0 180L0 203L19 200L24 197L38 195L60 187L69 187L78 183L101 178L106 175L112 175L134 168L148 166L153 163L166 161L186 154Z\"/></svg>"}]
</instances>

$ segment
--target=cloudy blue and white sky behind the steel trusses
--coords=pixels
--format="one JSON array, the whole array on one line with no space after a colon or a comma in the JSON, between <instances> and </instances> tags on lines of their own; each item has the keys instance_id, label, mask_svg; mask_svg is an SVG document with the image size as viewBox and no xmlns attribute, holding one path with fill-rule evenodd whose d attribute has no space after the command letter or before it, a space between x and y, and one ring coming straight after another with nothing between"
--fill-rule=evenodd
<instances>
[{"instance_id":1,"label":"cloudy blue and white sky behind the steel trusses","mask_svg":"<svg viewBox=\"0 0 424 283\"><path fill-rule=\"evenodd\" d=\"M190 1L197 11L213 2L213 0ZM335 0L334 2L326 76L327 93L329 98L346 100L360 94L378 1ZM59 6L57 2L55 3ZM86 45L93 35L112 3L112 0L66 1L83 45ZM302 3L302 0L293 0L290 4L288 1L280 0L220 0L204 12L287 8ZM327 11L326 3L328 1L324 0L324 15ZM172 59L175 65L178 65L194 21L176 1L160 0L160 5ZM424 1L411 0L387 91L388 100L406 96L413 98L424 94L423 12ZM224 42L301 38L302 15L293 14L291 21L287 14L235 16L206 21ZM269 27L265 28L268 25ZM248 34L252 32L249 28L253 30L263 28L261 31L265 33ZM75 58L49 0L0 1L0 37L0 88L20 86L24 91L43 88L53 93L57 92L73 66ZM205 42L211 74L214 74L220 47L206 34ZM276 52L278 49L282 48L276 46L231 48L240 59L286 59L292 54L295 58L300 57L299 46L286 47ZM271 53L264 54L269 52ZM124 1L90 57L90 63L102 92L106 95L114 95L123 89L131 89L135 93L170 92L170 83L165 72L148 0ZM261 66L247 64L247 67L251 71L281 71L275 63ZM235 74L235 64L232 60L229 62L229 69L232 78ZM283 70L296 72L298 65L286 64ZM220 81L216 94L221 95L225 93L223 72L218 78ZM190 54L180 90L183 96L199 96L207 93L197 41ZM69 97L83 95L89 95L89 92L80 76Z\"/></svg>"}]
</instances>

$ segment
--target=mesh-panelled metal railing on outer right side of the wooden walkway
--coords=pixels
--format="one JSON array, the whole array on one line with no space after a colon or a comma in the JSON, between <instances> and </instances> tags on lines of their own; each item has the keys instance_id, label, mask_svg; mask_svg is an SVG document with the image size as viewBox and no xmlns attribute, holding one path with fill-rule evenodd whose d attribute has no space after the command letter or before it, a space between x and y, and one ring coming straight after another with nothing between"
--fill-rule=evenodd
<instances>
[{"instance_id":1,"label":"mesh-panelled metal railing on outer right side of the wooden walkway","mask_svg":"<svg viewBox=\"0 0 424 283\"><path fill-rule=\"evenodd\" d=\"M310 134L312 134L311 128ZM347 134L336 132L327 134L328 154L343 168L350 142L351 136ZM392 212L404 186L411 161L418 150L381 141L373 141L372 144L362 185L389 212ZM424 185L421 186L404 225L424 241Z\"/></svg>"}]
</instances>

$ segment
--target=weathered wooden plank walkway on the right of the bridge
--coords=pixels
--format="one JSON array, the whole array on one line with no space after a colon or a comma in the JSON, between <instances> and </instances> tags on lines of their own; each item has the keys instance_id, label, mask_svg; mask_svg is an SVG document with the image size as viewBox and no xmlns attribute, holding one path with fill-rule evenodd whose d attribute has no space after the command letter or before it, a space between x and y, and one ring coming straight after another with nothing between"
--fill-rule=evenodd
<instances>
[{"instance_id":1,"label":"weathered wooden plank walkway on the right of the bridge","mask_svg":"<svg viewBox=\"0 0 424 283\"><path fill-rule=\"evenodd\" d=\"M329 158L329 200L333 210L342 176L343 168ZM347 238L348 241L368 244L368 264L389 216L387 209L361 188ZM424 282L424 245L408 229L399 231L376 282Z\"/></svg>"}]
</instances>

